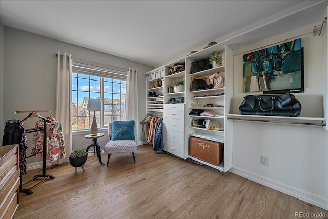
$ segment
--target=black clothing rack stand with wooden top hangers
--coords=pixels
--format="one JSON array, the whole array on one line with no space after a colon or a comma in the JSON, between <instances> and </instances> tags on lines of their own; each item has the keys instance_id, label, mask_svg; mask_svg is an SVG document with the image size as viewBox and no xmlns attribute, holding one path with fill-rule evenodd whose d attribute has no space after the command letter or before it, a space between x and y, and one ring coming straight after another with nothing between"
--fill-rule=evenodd
<instances>
[{"instance_id":1,"label":"black clothing rack stand with wooden top hangers","mask_svg":"<svg viewBox=\"0 0 328 219\"><path fill-rule=\"evenodd\" d=\"M33 194L32 190L34 187L38 186L39 184L45 182L48 178L54 179L55 177L53 175L47 175L46 174L46 152L47 152L47 122L50 123L50 120L47 120L46 118L40 116L38 114L38 112L48 112L48 110L36 110L36 111L15 111L14 112L14 117L16 115L16 113L27 113L29 112L30 114L24 118L23 120L20 121L20 125L23 125L23 123L25 121L27 121L29 118L33 118L33 117L37 117L43 120L43 128L31 128L31 129L25 129L26 133L32 133L32 132L37 132L37 131L43 131L43 150L36 153L43 153L42 156L42 174L41 175L35 175L33 178L31 178L31 180L27 181L26 183L23 184L23 175L20 175L20 185L19 185L19 192L21 193L25 193L28 195ZM35 156L36 154L33 154L31 156ZM29 158L31 156L27 156L26 158ZM32 187L28 188L28 189L23 189L23 186L36 180L39 177L43 177L43 180L39 181L38 183L36 183L35 185L33 185Z\"/></svg>"}]
</instances>

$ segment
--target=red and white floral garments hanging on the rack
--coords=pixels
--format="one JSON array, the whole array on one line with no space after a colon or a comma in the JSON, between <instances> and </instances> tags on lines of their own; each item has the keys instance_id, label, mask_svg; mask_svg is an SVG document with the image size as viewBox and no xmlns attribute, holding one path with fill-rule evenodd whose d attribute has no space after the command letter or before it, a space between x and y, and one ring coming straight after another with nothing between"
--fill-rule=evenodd
<instances>
[{"instance_id":1,"label":"red and white floral garments hanging on the rack","mask_svg":"<svg viewBox=\"0 0 328 219\"><path fill-rule=\"evenodd\" d=\"M61 123L56 121L53 117L48 116L47 120L51 123L47 124L47 155L49 155L50 163L55 162L58 158L66 156L64 134L61 128ZM44 121L39 120L35 124L35 128L43 128ZM32 138L32 152L31 155L36 155L43 149L43 130L34 132ZM43 153L40 153L43 158Z\"/></svg>"}]
</instances>

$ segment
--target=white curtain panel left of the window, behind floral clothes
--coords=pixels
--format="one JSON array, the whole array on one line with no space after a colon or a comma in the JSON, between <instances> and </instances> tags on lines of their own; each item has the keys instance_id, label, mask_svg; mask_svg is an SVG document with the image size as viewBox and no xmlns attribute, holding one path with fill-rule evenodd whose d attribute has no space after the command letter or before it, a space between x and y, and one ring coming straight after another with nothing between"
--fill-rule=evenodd
<instances>
[{"instance_id":1,"label":"white curtain panel left of the window, behind floral clothes","mask_svg":"<svg viewBox=\"0 0 328 219\"><path fill-rule=\"evenodd\" d=\"M56 120L61 122L63 128L66 157L58 159L58 164L69 162L72 151L72 126L71 126L71 104L72 104L72 55L64 53L57 56L57 94L56 94Z\"/></svg>"}]
</instances>

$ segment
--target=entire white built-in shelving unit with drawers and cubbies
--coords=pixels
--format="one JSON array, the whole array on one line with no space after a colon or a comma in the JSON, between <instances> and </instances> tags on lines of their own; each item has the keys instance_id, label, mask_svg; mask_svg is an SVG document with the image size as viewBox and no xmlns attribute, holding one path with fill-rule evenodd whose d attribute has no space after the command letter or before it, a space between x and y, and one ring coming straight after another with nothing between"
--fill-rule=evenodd
<instances>
[{"instance_id":1,"label":"entire white built-in shelving unit with drawers and cubbies","mask_svg":"<svg viewBox=\"0 0 328 219\"><path fill-rule=\"evenodd\" d=\"M190 74L190 67L193 61L197 61L204 58L209 58L213 52L224 51L224 59L226 62L217 68L208 69L201 72ZM145 73L147 80L147 95L149 92L162 92L163 96L159 97L147 97L147 114L154 114L161 116L163 112L164 123L165 123L165 150L181 158L189 158L190 160L203 163L205 165L216 168L220 171L226 172L232 167L232 122L227 121L227 113L230 111L231 98L233 96L233 61L232 61L232 50L224 44L216 44L212 47L203 49L202 51L191 54L185 58L181 58L173 63L169 63L163 67L152 70ZM174 64L179 63L185 65L185 71L174 73L169 75L169 69ZM162 71L164 74L160 75L163 77L152 78L151 75L156 76L156 72ZM225 79L228 87L219 89L199 90L190 91L190 78L193 77L209 77L210 75L219 72L220 75ZM162 79L162 86L152 88L152 85L157 79ZM185 91L182 92L171 92L169 93L169 86L172 82L178 79L185 79ZM176 109L170 109L168 104L169 99L185 97L185 104L180 105ZM199 103L201 107L191 107L193 103ZM206 107L207 104L217 105L218 107ZM177 104L178 105L178 104ZM177 110L178 109L178 110ZM204 109L213 110L217 116L190 116L189 112L192 109ZM162 111L161 111L162 110ZM170 115L170 112L177 112L181 115ZM172 113L171 113L172 114ZM175 114L175 113L173 113ZM173 117L172 117L173 116ZM176 116L176 117L174 117ZM194 117L206 118L210 120L219 120L222 130L207 130L206 128L199 128L191 126L191 121ZM183 129L175 130L175 127L166 127L172 123L172 119L178 123L183 123ZM177 126L177 125L175 125ZM172 134L174 133L174 134ZM198 158L189 155L189 137L195 136L199 138L205 138L207 140L223 143L223 162L219 165L212 165L205 161L201 161ZM174 137L173 139L170 139ZM182 139L181 139L182 138Z\"/></svg>"}]
</instances>

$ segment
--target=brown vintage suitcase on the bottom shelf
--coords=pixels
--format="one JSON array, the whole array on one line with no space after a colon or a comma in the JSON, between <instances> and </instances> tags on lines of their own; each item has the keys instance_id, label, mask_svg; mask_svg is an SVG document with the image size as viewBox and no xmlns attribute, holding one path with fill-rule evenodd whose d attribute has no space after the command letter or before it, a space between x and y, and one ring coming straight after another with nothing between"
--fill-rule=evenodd
<instances>
[{"instance_id":1,"label":"brown vintage suitcase on the bottom shelf","mask_svg":"<svg viewBox=\"0 0 328 219\"><path fill-rule=\"evenodd\" d=\"M189 137L189 155L210 164L218 165L223 160L223 146L220 142Z\"/></svg>"}]
</instances>

